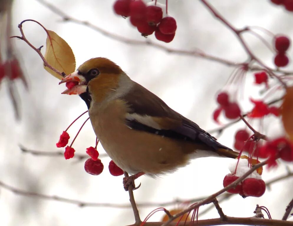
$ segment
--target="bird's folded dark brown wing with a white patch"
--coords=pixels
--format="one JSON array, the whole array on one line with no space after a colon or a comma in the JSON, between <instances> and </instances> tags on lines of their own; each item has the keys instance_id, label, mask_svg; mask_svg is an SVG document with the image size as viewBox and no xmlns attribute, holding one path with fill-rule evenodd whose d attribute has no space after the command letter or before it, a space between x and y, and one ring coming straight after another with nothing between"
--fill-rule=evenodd
<instances>
[{"instance_id":1,"label":"bird's folded dark brown wing with a white patch","mask_svg":"<svg viewBox=\"0 0 293 226\"><path fill-rule=\"evenodd\" d=\"M159 97L137 83L121 99L129 105L126 123L132 129L206 144L214 150L229 149L218 143L196 123L175 112Z\"/></svg>"}]
</instances>

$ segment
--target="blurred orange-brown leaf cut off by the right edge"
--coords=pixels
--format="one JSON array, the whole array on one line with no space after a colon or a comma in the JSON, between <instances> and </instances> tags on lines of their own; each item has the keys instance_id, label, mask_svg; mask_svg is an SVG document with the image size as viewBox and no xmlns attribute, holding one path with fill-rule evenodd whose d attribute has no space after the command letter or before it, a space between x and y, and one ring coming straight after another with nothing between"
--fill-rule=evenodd
<instances>
[{"instance_id":1,"label":"blurred orange-brown leaf cut off by the right edge","mask_svg":"<svg viewBox=\"0 0 293 226\"><path fill-rule=\"evenodd\" d=\"M293 141L293 86L288 87L281 108L282 122L286 133Z\"/></svg>"}]
</instances>

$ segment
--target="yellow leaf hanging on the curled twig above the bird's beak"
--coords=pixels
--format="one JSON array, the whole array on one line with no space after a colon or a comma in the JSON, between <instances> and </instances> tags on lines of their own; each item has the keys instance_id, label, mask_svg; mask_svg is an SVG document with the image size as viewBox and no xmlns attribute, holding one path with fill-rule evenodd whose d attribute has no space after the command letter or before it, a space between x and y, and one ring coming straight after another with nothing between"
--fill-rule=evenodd
<instances>
[{"instance_id":1,"label":"yellow leaf hanging on the curled twig above the bird's beak","mask_svg":"<svg viewBox=\"0 0 293 226\"><path fill-rule=\"evenodd\" d=\"M45 59L52 67L65 74L70 74L75 71L75 57L72 49L64 39L58 36L54 31L48 31L46 40ZM55 76L57 79L63 77L51 70L48 67L44 68L47 72Z\"/></svg>"}]
</instances>

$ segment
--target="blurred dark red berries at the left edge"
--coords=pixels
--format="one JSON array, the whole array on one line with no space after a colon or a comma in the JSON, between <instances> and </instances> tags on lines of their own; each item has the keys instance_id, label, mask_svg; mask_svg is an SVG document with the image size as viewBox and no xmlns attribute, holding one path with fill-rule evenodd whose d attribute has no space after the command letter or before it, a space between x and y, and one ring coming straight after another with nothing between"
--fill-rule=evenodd
<instances>
[{"instance_id":1,"label":"blurred dark red berries at the left edge","mask_svg":"<svg viewBox=\"0 0 293 226\"><path fill-rule=\"evenodd\" d=\"M0 64L0 82L4 77L11 80L23 77L22 70L16 58Z\"/></svg>"}]
</instances>

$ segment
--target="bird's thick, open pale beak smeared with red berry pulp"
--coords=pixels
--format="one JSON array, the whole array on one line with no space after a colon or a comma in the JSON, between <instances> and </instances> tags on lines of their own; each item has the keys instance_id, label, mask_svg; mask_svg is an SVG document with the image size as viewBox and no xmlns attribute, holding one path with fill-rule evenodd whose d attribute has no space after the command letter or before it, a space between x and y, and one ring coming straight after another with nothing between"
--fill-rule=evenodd
<instances>
[{"instance_id":1,"label":"bird's thick, open pale beak smeared with red berry pulp","mask_svg":"<svg viewBox=\"0 0 293 226\"><path fill-rule=\"evenodd\" d=\"M82 75L78 74L77 71L63 78L61 82L59 82L59 85L65 82L66 83L72 82L73 84L76 83L76 85L74 85L73 87L66 85L67 87L71 87L71 88L64 90L62 94L79 95L86 92L86 87L87 87L87 85L85 84L86 80Z\"/></svg>"}]
</instances>

